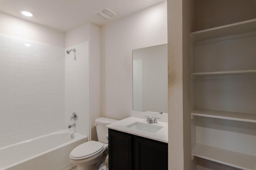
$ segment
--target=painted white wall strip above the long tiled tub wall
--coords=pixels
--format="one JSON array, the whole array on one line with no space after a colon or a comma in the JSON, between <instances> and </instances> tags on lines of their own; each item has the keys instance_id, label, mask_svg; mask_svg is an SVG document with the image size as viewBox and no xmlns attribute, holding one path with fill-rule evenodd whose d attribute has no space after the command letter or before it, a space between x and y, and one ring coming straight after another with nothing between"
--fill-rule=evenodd
<instances>
[{"instance_id":1,"label":"painted white wall strip above the long tiled tub wall","mask_svg":"<svg viewBox=\"0 0 256 170\"><path fill-rule=\"evenodd\" d=\"M63 32L0 12L0 33L64 47Z\"/></svg>"}]
</instances>

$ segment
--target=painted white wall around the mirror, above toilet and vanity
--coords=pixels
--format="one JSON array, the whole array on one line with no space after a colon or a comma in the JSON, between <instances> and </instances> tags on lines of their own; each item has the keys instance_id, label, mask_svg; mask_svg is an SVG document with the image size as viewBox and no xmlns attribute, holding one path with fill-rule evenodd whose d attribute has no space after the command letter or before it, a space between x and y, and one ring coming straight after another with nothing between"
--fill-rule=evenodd
<instances>
[{"instance_id":1,"label":"painted white wall around the mirror, above toilet and vanity","mask_svg":"<svg viewBox=\"0 0 256 170\"><path fill-rule=\"evenodd\" d=\"M101 116L123 119L132 110L132 50L167 43L166 2L101 27Z\"/></svg>"}]
</instances>

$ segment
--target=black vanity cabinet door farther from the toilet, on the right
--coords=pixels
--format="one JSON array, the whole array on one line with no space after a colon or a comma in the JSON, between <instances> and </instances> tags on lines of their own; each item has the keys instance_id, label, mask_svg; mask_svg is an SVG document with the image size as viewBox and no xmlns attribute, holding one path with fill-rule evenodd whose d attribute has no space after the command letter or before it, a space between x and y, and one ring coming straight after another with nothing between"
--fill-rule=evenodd
<instances>
[{"instance_id":1,"label":"black vanity cabinet door farther from the toilet, on the right","mask_svg":"<svg viewBox=\"0 0 256 170\"><path fill-rule=\"evenodd\" d=\"M134 170L168 170L168 144L134 136Z\"/></svg>"}]
</instances>

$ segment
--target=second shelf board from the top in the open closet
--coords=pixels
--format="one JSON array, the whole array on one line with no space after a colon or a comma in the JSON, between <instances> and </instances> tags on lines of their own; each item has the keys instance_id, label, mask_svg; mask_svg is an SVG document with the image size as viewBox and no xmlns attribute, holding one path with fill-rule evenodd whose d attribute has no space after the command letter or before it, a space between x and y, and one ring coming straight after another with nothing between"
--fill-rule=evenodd
<instances>
[{"instance_id":1,"label":"second shelf board from the top in the open closet","mask_svg":"<svg viewBox=\"0 0 256 170\"><path fill-rule=\"evenodd\" d=\"M193 72L193 73L191 73L191 76L214 76L214 75L251 74L251 73L256 73L256 70Z\"/></svg>"}]
</instances>

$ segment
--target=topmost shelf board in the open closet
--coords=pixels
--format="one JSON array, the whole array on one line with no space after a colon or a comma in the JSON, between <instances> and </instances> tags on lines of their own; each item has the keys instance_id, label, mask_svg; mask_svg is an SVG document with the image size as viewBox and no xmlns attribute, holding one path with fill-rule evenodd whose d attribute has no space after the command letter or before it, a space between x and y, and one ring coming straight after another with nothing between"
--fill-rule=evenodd
<instances>
[{"instance_id":1,"label":"topmost shelf board in the open closet","mask_svg":"<svg viewBox=\"0 0 256 170\"><path fill-rule=\"evenodd\" d=\"M256 30L256 19L242 21L238 23L232 23L223 25L220 27L214 27L210 29L204 29L190 33L190 37L195 41L202 41L206 39L213 39L217 37L224 37L228 35L235 35L239 33L245 33Z\"/></svg>"}]
</instances>

